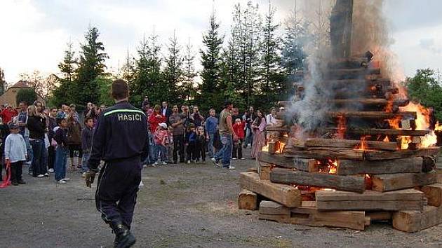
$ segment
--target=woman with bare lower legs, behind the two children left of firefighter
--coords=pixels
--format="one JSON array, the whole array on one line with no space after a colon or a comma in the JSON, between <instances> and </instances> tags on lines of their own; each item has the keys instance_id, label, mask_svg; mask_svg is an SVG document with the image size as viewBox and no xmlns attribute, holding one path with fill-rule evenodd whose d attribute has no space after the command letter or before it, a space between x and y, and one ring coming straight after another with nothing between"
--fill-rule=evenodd
<instances>
[{"instance_id":1,"label":"woman with bare lower legs, behind the two children left of firefighter","mask_svg":"<svg viewBox=\"0 0 442 248\"><path fill-rule=\"evenodd\" d=\"M81 125L78 120L78 114L76 111L70 111L67 115L67 146L69 148L69 158L71 160L71 166L81 168L81 159L83 158L83 150L81 150ZM78 151L79 156L76 157L74 162L74 153Z\"/></svg>"}]
</instances>

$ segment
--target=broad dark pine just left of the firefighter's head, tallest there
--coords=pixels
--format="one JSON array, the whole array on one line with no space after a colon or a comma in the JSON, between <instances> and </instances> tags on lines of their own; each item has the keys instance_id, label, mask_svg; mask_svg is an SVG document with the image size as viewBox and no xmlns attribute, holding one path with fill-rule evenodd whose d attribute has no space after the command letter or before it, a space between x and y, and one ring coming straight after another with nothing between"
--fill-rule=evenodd
<instances>
[{"instance_id":1,"label":"broad dark pine just left of the firefighter's head, tallest there","mask_svg":"<svg viewBox=\"0 0 442 248\"><path fill-rule=\"evenodd\" d=\"M96 102L100 97L98 81L95 81L95 78L105 75L104 62L109 57L104 53L105 46L98 41L98 36L100 36L98 29L89 27L85 35L86 42L81 44L79 67L76 69L75 78L76 104Z\"/></svg>"}]
</instances>

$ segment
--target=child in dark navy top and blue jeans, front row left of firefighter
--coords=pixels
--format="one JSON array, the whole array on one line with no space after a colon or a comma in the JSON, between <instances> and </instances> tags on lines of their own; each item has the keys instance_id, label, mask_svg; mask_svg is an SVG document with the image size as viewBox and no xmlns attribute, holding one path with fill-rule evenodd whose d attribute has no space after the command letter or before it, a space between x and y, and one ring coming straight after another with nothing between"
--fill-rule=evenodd
<instances>
[{"instance_id":1,"label":"child in dark navy top and blue jeans, front row left of firefighter","mask_svg":"<svg viewBox=\"0 0 442 248\"><path fill-rule=\"evenodd\" d=\"M57 119L58 127L54 128L55 135L53 139L57 142L55 149L55 181L59 184L66 184L69 179L66 178L66 163L69 155L67 146L67 120L65 118Z\"/></svg>"}]
</instances>

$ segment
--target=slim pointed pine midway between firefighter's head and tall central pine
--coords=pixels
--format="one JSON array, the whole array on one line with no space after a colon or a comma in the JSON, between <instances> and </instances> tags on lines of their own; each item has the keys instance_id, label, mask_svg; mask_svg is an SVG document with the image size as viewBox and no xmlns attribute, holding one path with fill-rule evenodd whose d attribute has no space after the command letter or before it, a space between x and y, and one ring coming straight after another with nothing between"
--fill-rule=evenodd
<instances>
[{"instance_id":1,"label":"slim pointed pine midway between firefighter's head and tall central pine","mask_svg":"<svg viewBox=\"0 0 442 248\"><path fill-rule=\"evenodd\" d=\"M168 56L165 58L166 68L163 71L164 85L163 85L163 99L169 102L178 102L178 84L182 81L182 55L181 48L178 44L175 32L169 39Z\"/></svg>"}]
</instances>

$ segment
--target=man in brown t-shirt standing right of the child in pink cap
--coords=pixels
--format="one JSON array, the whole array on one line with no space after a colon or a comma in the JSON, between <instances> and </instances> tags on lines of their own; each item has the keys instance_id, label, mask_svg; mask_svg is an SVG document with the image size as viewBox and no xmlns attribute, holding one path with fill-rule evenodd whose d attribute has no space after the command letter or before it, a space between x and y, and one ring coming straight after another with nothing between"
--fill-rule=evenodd
<instances>
[{"instance_id":1,"label":"man in brown t-shirt standing right of the child in pink cap","mask_svg":"<svg viewBox=\"0 0 442 248\"><path fill-rule=\"evenodd\" d=\"M185 123L185 117L182 116L182 114L178 109L178 106L175 105L173 106L173 113L170 115L169 117L169 123L172 126L173 130L172 130L172 134L173 134L173 163L176 164L178 162L178 151L180 153L180 163L185 163L184 160L184 146L185 146L185 141L184 141L184 134L185 134L185 128L184 128L184 123Z\"/></svg>"}]
</instances>

